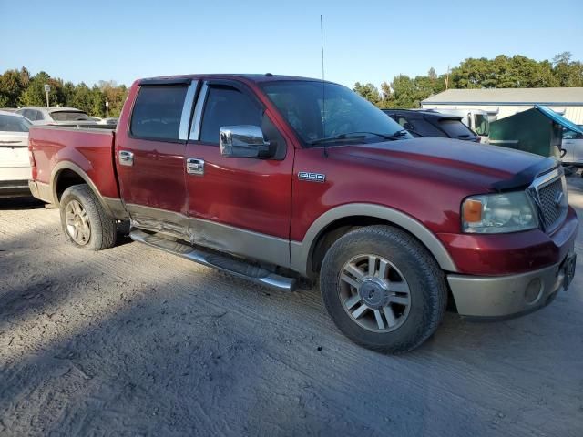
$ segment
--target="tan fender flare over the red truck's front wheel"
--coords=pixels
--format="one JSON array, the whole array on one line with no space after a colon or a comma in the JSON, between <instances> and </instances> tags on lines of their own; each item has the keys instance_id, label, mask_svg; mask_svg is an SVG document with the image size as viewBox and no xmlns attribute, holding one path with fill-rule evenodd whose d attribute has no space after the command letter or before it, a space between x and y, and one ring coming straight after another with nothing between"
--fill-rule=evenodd
<instances>
[{"instance_id":1,"label":"tan fender flare over the red truck's front wheel","mask_svg":"<svg viewBox=\"0 0 583 437\"><path fill-rule=\"evenodd\" d=\"M397 209L370 203L350 203L341 205L329 209L318 219L315 219L301 242L291 241L290 255L292 269L303 276L313 277L314 272L311 268L312 251L315 242L322 235L322 231L338 219L357 216L383 219L407 230L416 239L419 239L424 247L429 250L441 269L453 272L458 271L455 267L454 259L449 255L444 244L437 239L435 234L427 229L423 223Z\"/></svg>"}]
</instances>

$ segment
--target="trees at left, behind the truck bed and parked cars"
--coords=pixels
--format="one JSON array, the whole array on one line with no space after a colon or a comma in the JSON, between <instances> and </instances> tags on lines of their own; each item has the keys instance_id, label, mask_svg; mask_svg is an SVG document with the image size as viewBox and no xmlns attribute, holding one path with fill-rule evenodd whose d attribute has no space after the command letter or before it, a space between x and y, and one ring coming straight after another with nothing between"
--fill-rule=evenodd
<instances>
[{"instance_id":1,"label":"trees at left, behind the truck bed and parked cars","mask_svg":"<svg viewBox=\"0 0 583 437\"><path fill-rule=\"evenodd\" d=\"M115 81L100 80L91 87L84 82L75 85L44 71L31 76L23 66L0 76L0 107L45 107L45 85L50 86L51 107L77 107L93 117L106 117L106 101L109 117L118 117L128 96L128 88Z\"/></svg>"}]
</instances>

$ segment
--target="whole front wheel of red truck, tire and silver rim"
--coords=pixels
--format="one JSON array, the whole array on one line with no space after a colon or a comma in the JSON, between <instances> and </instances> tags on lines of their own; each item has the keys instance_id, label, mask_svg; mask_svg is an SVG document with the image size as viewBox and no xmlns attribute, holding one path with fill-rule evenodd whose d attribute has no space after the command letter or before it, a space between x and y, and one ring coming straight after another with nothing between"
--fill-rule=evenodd
<instances>
[{"instance_id":1,"label":"whole front wheel of red truck, tire and silver rim","mask_svg":"<svg viewBox=\"0 0 583 437\"><path fill-rule=\"evenodd\" d=\"M320 274L324 306L349 339L374 351L412 351L445 314L444 273L416 239L375 225L337 239Z\"/></svg>"}]
</instances>

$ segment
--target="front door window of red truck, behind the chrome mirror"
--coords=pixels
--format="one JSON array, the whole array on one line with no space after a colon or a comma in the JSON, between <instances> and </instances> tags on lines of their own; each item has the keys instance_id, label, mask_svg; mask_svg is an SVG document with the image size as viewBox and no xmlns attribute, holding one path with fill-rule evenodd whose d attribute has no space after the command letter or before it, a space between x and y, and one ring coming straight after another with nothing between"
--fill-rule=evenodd
<instances>
[{"instance_id":1,"label":"front door window of red truck, behind the chrome mirror","mask_svg":"<svg viewBox=\"0 0 583 437\"><path fill-rule=\"evenodd\" d=\"M230 86L211 86L200 125L200 141L219 144L223 126L262 125L262 109L251 97Z\"/></svg>"}]
</instances>

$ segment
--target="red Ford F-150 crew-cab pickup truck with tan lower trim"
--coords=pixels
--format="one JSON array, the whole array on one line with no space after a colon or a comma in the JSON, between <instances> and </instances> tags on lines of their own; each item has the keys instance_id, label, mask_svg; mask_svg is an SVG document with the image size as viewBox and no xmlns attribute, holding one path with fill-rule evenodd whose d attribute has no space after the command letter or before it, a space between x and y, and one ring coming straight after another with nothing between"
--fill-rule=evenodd
<instances>
[{"instance_id":1,"label":"red Ford F-150 crew-cab pickup truck with tan lower trim","mask_svg":"<svg viewBox=\"0 0 583 437\"><path fill-rule=\"evenodd\" d=\"M136 81L116 130L33 127L36 198L66 239L130 237L281 290L319 279L350 339L410 351L448 300L504 318L566 290L578 219L555 159L413 138L351 90L292 76Z\"/></svg>"}]
</instances>

